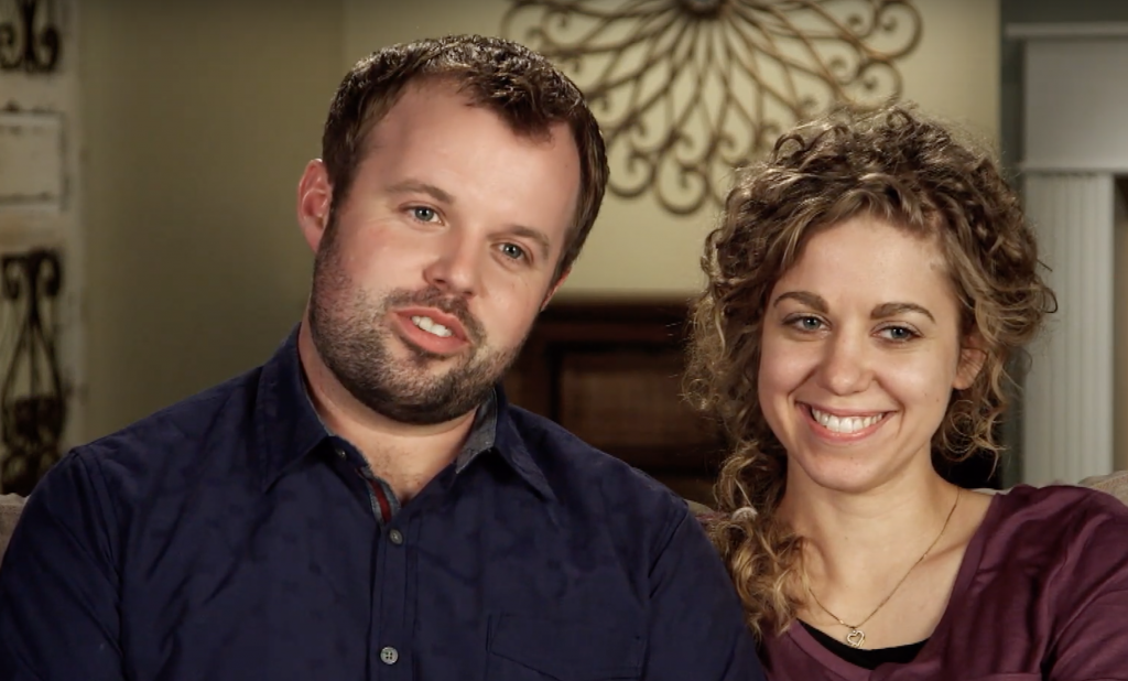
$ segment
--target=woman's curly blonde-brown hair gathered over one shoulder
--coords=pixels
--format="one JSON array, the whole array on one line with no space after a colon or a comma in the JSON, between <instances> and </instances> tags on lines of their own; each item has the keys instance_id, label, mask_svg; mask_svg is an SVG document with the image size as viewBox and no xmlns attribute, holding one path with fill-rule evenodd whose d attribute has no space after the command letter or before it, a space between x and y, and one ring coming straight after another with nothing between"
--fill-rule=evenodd
<instances>
[{"instance_id":1,"label":"woman's curly blonde-brown hair gathered over one shoulder","mask_svg":"<svg viewBox=\"0 0 1128 681\"><path fill-rule=\"evenodd\" d=\"M997 456L1007 361L1056 307L1034 235L996 162L911 107L836 112L783 135L765 161L740 173L702 257L708 281L693 313L687 390L732 445L716 485L722 520L711 533L759 637L786 629L802 604L802 539L776 513L787 454L757 397L764 312L811 236L863 213L936 239L962 331L976 334L985 355L975 383L953 391L934 457ZM738 512L748 507L755 512Z\"/></svg>"}]
</instances>

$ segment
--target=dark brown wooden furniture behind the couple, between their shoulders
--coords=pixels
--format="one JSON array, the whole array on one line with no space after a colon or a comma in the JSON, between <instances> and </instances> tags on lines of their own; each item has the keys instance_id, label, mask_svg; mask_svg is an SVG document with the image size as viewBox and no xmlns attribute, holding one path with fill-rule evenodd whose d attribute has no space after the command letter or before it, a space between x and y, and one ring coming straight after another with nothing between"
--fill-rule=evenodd
<instances>
[{"instance_id":1,"label":"dark brown wooden furniture behind the couple, between their shoulders","mask_svg":"<svg viewBox=\"0 0 1128 681\"><path fill-rule=\"evenodd\" d=\"M505 380L510 400L712 503L722 439L681 397L688 307L565 300L541 312Z\"/></svg>"}]
</instances>

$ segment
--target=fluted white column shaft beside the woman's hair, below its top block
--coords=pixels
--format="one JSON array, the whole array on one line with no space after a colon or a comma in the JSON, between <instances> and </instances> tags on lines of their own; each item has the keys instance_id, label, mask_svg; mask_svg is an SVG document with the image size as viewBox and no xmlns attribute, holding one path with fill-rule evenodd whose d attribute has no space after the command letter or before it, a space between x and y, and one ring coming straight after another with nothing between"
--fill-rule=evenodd
<instances>
[{"instance_id":1,"label":"fluted white column shaft beside the woman's hair, below its top block","mask_svg":"<svg viewBox=\"0 0 1128 681\"><path fill-rule=\"evenodd\" d=\"M1029 171L1024 189L1058 311L1029 348L1022 481L1077 483L1112 470L1113 177Z\"/></svg>"}]
</instances>

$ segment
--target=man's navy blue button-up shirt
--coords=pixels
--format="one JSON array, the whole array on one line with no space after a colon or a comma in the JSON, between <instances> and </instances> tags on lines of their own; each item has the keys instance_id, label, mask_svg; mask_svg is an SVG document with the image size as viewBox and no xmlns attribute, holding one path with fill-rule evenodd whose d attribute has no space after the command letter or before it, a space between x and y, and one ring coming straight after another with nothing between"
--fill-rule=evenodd
<instances>
[{"instance_id":1,"label":"man's navy blue button-up shirt","mask_svg":"<svg viewBox=\"0 0 1128 681\"><path fill-rule=\"evenodd\" d=\"M0 680L761 679L686 504L494 407L493 446L385 523L294 336L76 449L0 567Z\"/></svg>"}]
</instances>

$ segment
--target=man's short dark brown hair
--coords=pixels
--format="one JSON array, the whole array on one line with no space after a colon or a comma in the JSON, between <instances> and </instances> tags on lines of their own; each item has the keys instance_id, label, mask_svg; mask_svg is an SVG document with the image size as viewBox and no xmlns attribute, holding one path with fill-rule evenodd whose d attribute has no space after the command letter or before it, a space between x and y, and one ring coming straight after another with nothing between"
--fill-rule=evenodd
<instances>
[{"instance_id":1,"label":"man's short dark brown hair","mask_svg":"<svg viewBox=\"0 0 1128 681\"><path fill-rule=\"evenodd\" d=\"M475 106L497 113L518 134L541 138L566 123L580 152L580 197L558 278L580 255L607 186L607 152L583 94L547 59L511 41L447 36L385 47L352 68L329 107L321 159L333 185L332 212L349 195L369 134L409 83L449 81Z\"/></svg>"}]
</instances>

